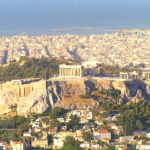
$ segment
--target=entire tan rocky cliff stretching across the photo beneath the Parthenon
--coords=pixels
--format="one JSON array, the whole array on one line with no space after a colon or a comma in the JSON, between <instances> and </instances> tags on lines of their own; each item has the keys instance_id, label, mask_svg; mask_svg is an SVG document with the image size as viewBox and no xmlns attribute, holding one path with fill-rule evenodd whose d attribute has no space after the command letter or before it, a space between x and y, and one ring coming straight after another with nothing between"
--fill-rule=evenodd
<instances>
[{"instance_id":1,"label":"entire tan rocky cliff stretching across the photo beneath the Parthenon","mask_svg":"<svg viewBox=\"0 0 150 150\"><path fill-rule=\"evenodd\" d=\"M0 114L17 111L20 115L43 113L55 105L66 108L85 108L98 105L95 100L80 96L94 90L118 89L126 101L149 99L149 83L101 78L90 80L40 80L28 84L0 84Z\"/></svg>"}]
</instances>

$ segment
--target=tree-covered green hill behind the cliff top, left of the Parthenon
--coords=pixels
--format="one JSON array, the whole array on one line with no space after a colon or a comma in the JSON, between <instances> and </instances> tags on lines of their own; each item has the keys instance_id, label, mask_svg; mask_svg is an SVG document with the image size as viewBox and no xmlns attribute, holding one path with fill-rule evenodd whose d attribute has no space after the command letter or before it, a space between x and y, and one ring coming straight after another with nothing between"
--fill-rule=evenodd
<instances>
[{"instance_id":1,"label":"tree-covered green hill behind the cliff top, left of the Parthenon","mask_svg":"<svg viewBox=\"0 0 150 150\"><path fill-rule=\"evenodd\" d=\"M59 64L67 63L54 58L22 58L6 67L0 67L0 82L22 78L48 78L58 74Z\"/></svg>"}]
</instances>

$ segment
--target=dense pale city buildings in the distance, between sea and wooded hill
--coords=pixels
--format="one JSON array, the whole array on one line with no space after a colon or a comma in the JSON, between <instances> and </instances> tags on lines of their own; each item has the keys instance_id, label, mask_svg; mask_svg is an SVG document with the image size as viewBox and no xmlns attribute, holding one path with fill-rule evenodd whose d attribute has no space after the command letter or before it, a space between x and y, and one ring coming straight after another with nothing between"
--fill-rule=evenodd
<instances>
[{"instance_id":1,"label":"dense pale city buildings in the distance, between sea and wooded hill","mask_svg":"<svg viewBox=\"0 0 150 150\"><path fill-rule=\"evenodd\" d=\"M22 56L96 60L109 65L150 63L150 31L122 30L99 35L12 36L0 38L0 64Z\"/></svg>"}]
</instances>

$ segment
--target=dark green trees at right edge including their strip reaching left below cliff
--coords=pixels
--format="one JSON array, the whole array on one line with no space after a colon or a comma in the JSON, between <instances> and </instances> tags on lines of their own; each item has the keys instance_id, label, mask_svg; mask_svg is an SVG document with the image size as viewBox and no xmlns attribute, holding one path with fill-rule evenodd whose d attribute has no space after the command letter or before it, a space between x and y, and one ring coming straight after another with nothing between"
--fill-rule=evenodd
<instances>
[{"instance_id":1,"label":"dark green trees at right edge including their strip reaching left below cliff","mask_svg":"<svg viewBox=\"0 0 150 150\"><path fill-rule=\"evenodd\" d=\"M150 101L142 100L138 103L112 104L105 101L101 106L106 112L122 112L117 123L124 126L124 134L130 135L135 130L144 130L150 124Z\"/></svg>"}]
</instances>

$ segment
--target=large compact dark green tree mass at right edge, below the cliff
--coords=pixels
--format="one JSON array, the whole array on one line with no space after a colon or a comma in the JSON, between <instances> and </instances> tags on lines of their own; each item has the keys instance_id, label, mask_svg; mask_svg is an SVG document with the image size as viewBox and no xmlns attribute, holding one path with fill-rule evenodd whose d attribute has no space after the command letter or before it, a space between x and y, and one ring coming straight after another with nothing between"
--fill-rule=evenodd
<instances>
[{"instance_id":1,"label":"large compact dark green tree mass at right edge, below the cliff","mask_svg":"<svg viewBox=\"0 0 150 150\"><path fill-rule=\"evenodd\" d=\"M135 130L144 130L150 125L150 101L125 105L118 123L124 126L124 133L130 135Z\"/></svg>"}]
</instances>

